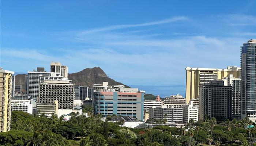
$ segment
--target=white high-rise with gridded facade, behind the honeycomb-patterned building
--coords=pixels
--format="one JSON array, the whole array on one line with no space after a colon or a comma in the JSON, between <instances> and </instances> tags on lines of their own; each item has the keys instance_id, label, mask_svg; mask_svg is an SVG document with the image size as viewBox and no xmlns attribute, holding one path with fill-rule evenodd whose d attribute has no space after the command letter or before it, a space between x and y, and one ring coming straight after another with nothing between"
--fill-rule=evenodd
<instances>
[{"instance_id":1,"label":"white high-rise with gridded facade, behind the honeycomb-patterned building","mask_svg":"<svg viewBox=\"0 0 256 146\"><path fill-rule=\"evenodd\" d=\"M51 73L51 72L27 72L27 81L26 81L26 89L28 96L31 96L32 99L37 100L39 95L39 84L44 82L44 80L59 80L62 78L60 74Z\"/></svg>"}]
</instances>

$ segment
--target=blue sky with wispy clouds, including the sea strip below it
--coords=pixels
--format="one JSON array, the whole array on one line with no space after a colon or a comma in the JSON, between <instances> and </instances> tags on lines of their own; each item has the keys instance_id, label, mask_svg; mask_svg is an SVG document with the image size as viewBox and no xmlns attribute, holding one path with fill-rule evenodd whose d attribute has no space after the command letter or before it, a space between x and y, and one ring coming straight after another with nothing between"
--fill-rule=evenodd
<instances>
[{"instance_id":1,"label":"blue sky with wispy clouds, including the sea strip below it","mask_svg":"<svg viewBox=\"0 0 256 146\"><path fill-rule=\"evenodd\" d=\"M185 68L240 66L256 39L255 0L1 0L0 66L99 66L146 93L185 94Z\"/></svg>"}]
</instances>

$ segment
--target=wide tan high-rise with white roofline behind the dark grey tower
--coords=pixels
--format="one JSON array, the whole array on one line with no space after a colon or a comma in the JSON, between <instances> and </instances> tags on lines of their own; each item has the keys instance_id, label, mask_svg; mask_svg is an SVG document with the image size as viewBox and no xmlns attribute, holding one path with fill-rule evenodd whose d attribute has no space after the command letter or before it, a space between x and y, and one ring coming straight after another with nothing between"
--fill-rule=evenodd
<instances>
[{"instance_id":1,"label":"wide tan high-rise with white roofline behind the dark grey tower","mask_svg":"<svg viewBox=\"0 0 256 146\"><path fill-rule=\"evenodd\" d=\"M212 68L185 68L186 70L186 100L187 103L191 99L199 97L199 85L209 83L212 80L222 79L230 74L234 78L239 78L241 68L236 66L227 66L227 69L212 69Z\"/></svg>"}]
</instances>

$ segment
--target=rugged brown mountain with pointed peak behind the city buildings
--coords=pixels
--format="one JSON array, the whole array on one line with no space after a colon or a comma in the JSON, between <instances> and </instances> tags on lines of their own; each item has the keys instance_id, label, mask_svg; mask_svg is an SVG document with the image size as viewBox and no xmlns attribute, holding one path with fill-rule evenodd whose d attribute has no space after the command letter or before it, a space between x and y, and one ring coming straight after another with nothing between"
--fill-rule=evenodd
<instances>
[{"instance_id":1,"label":"rugged brown mountain with pointed peak behind the city buildings","mask_svg":"<svg viewBox=\"0 0 256 146\"><path fill-rule=\"evenodd\" d=\"M102 82L109 82L112 85L124 85L109 78L100 67L86 68L77 73L70 73L68 74L68 79L75 82L76 85L88 86L90 88L93 88L93 84L102 84ZM127 85L124 86L130 88Z\"/></svg>"}]
</instances>

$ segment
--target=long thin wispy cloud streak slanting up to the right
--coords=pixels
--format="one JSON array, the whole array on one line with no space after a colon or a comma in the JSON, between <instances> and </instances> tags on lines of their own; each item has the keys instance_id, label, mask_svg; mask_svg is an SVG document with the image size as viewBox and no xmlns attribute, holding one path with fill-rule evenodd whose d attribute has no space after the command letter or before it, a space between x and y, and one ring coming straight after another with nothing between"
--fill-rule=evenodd
<instances>
[{"instance_id":1,"label":"long thin wispy cloud streak slanting up to the right","mask_svg":"<svg viewBox=\"0 0 256 146\"><path fill-rule=\"evenodd\" d=\"M86 31L81 32L79 35L100 32L100 31L118 30L118 29L131 28L131 27L153 26L153 25L159 25L159 24L165 24L165 23L172 23L172 22L176 22L176 21L180 21L180 20L188 20L188 18L184 17L184 16L180 16L180 17L173 17L170 19L164 19L164 20L160 20L160 21L141 23L141 24L123 24L123 25L107 26L107 27L102 27L102 28L95 28L92 30L86 30Z\"/></svg>"}]
</instances>

